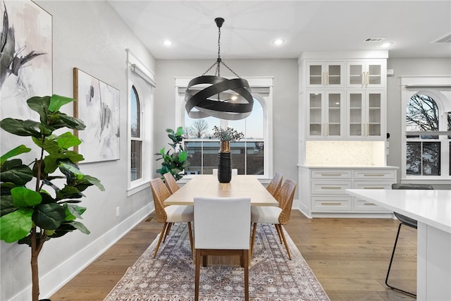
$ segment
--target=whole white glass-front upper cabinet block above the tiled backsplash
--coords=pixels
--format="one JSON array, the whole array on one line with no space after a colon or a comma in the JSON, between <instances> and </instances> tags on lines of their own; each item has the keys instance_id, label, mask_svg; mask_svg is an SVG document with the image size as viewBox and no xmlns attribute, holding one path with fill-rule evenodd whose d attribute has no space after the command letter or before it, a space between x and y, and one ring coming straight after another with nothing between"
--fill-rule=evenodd
<instances>
[{"instance_id":1,"label":"whole white glass-front upper cabinet block above the tiled backsplash","mask_svg":"<svg viewBox=\"0 0 451 301\"><path fill-rule=\"evenodd\" d=\"M385 141L387 56L386 51L303 53L299 141Z\"/></svg>"}]
</instances>

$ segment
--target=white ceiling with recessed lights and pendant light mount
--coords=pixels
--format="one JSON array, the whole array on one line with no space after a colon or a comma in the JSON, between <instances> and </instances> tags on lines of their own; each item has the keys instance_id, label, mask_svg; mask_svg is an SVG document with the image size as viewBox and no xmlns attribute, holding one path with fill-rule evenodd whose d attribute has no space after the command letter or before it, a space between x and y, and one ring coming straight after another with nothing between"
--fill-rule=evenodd
<instances>
[{"instance_id":1,"label":"white ceiling with recessed lights and pendant light mount","mask_svg":"<svg viewBox=\"0 0 451 301\"><path fill-rule=\"evenodd\" d=\"M111 0L156 59L293 59L302 51L381 50L390 58L450 58L451 1L126 1ZM286 40L275 47L273 39ZM163 39L171 39L165 47Z\"/></svg>"}]
</instances>

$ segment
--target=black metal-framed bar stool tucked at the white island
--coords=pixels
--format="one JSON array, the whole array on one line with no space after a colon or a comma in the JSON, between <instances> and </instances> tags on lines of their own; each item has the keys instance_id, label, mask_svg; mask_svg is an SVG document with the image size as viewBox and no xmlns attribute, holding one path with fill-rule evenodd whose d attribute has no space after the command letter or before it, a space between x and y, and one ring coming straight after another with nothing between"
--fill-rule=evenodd
<instances>
[{"instance_id":1,"label":"black metal-framed bar stool tucked at the white island","mask_svg":"<svg viewBox=\"0 0 451 301\"><path fill-rule=\"evenodd\" d=\"M394 184L392 184L392 189L433 190L434 188L432 187L432 185L427 185L427 184L400 184L400 183L394 183ZM388 276L390 276L390 269L391 269L392 264L393 264L393 257L395 256L397 239L400 236L401 226L404 225L404 226L409 226L410 228L414 228L414 229L417 228L417 221L415 219L411 219L411 218L409 218L409 216L405 216L405 215L399 214L397 212L393 212L393 214L395 214L396 218L400 221L400 226L397 227L395 245L393 245L392 257L390 258L390 264L388 265L387 276L385 277L385 284L389 288L391 288L393 290L398 290L398 291L400 291L402 293L406 293L408 295L412 295L412 296L416 297L416 294L414 294L414 293L407 292L406 290L402 290L400 288L395 288L393 285L388 284Z\"/></svg>"}]
</instances>

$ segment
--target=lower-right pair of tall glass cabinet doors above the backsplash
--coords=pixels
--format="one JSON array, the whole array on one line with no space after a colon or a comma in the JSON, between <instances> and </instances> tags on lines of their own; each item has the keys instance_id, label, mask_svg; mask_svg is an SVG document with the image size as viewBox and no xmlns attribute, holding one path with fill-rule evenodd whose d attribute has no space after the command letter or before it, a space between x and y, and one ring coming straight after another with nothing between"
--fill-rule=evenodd
<instances>
[{"instance_id":1,"label":"lower-right pair of tall glass cabinet doors above the backsplash","mask_svg":"<svg viewBox=\"0 0 451 301\"><path fill-rule=\"evenodd\" d=\"M356 140L383 140L384 92L347 92L347 137Z\"/></svg>"}]
</instances>

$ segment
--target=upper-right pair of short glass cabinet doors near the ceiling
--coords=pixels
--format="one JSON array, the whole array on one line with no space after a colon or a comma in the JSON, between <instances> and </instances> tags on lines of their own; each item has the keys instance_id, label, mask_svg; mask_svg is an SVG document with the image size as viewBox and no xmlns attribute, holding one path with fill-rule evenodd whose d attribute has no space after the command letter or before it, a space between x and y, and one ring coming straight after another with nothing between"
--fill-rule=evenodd
<instances>
[{"instance_id":1,"label":"upper-right pair of short glass cabinet doors near the ceiling","mask_svg":"<svg viewBox=\"0 0 451 301\"><path fill-rule=\"evenodd\" d=\"M385 88L387 66L385 60L347 61L346 87Z\"/></svg>"}]
</instances>

